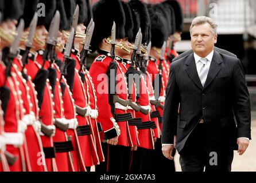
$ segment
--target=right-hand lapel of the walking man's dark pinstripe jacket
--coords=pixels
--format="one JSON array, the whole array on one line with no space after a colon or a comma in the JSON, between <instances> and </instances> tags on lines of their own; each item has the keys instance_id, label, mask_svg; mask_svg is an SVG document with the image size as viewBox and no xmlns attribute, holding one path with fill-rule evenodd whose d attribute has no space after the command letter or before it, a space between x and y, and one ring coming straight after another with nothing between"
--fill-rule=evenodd
<instances>
[{"instance_id":1,"label":"right-hand lapel of the walking man's dark pinstripe jacket","mask_svg":"<svg viewBox=\"0 0 256 183\"><path fill-rule=\"evenodd\" d=\"M212 80L214 80L216 75L219 73L220 69L222 69L222 67L220 66L220 63L222 63L222 58L220 57L220 54L218 52L214 51L214 57L212 57L210 69L209 69L208 75L207 75L207 79L204 83L204 89L205 89L205 87L210 85Z\"/></svg>"}]
</instances>

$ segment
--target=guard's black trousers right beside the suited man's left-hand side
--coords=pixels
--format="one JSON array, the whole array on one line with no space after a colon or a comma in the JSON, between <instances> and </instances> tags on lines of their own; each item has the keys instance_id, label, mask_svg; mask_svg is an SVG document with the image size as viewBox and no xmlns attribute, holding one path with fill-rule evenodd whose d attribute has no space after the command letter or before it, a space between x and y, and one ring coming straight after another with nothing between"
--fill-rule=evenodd
<instances>
[{"instance_id":1,"label":"guard's black trousers right beside the suited man's left-hand side","mask_svg":"<svg viewBox=\"0 0 256 183\"><path fill-rule=\"evenodd\" d=\"M173 150L173 157L175 153L176 149ZM161 138L157 138L150 159L153 172L175 172L174 160L169 160L162 154Z\"/></svg>"}]
</instances>

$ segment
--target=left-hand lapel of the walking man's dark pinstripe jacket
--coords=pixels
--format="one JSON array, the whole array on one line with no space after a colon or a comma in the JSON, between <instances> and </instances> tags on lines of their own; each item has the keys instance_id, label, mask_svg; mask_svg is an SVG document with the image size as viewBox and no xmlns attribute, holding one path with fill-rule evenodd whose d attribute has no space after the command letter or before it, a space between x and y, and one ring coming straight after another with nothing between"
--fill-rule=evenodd
<instances>
[{"instance_id":1,"label":"left-hand lapel of the walking man's dark pinstripe jacket","mask_svg":"<svg viewBox=\"0 0 256 183\"><path fill-rule=\"evenodd\" d=\"M196 70L196 62L193 53L189 54L188 57L185 59L185 65L187 66L185 67L185 70L187 71L189 77L196 84L196 86L200 87L200 89L203 89L199 75Z\"/></svg>"}]
</instances>

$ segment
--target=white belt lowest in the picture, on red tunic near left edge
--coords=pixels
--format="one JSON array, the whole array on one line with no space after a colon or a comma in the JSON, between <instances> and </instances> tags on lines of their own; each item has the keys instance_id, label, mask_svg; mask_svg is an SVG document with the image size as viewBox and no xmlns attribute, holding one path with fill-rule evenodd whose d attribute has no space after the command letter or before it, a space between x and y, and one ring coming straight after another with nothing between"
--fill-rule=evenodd
<instances>
[{"instance_id":1,"label":"white belt lowest in the picture, on red tunic near left edge","mask_svg":"<svg viewBox=\"0 0 256 183\"><path fill-rule=\"evenodd\" d=\"M3 137L5 138L5 144L21 146L24 142L24 134L23 133L3 133Z\"/></svg>"}]
</instances>

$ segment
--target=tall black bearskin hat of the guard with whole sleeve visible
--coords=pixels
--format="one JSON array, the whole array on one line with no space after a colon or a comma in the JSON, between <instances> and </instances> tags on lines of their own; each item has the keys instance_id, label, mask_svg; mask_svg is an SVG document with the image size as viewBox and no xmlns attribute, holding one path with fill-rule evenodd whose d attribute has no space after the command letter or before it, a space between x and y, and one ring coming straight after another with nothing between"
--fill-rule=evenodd
<instances>
[{"instance_id":1,"label":"tall black bearskin hat of the guard with whole sleeve visible","mask_svg":"<svg viewBox=\"0 0 256 183\"><path fill-rule=\"evenodd\" d=\"M115 10L115 11L113 11ZM116 25L116 39L125 38L125 12L119 0L100 0L92 7L94 15L94 34L92 35L91 50L98 49L102 39L111 35L113 22Z\"/></svg>"}]
</instances>

